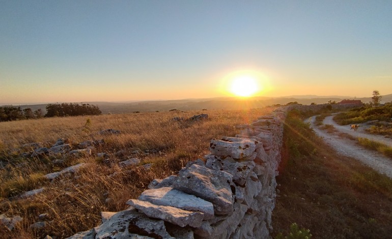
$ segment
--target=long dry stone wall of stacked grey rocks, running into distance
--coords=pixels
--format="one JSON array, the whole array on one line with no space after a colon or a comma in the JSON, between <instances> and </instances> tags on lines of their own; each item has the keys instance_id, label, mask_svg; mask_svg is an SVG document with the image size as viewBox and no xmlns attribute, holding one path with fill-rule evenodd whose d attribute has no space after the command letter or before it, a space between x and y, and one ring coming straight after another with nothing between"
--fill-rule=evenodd
<instances>
[{"instance_id":1,"label":"long dry stone wall of stacked grey rocks, running into distance","mask_svg":"<svg viewBox=\"0 0 392 239\"><path fill-rule=\"evenodd\" d=\"M69 238L268 238L285 109L212 139L211 154L156 179L125 211Z\"/></svg>"}]
</instances>

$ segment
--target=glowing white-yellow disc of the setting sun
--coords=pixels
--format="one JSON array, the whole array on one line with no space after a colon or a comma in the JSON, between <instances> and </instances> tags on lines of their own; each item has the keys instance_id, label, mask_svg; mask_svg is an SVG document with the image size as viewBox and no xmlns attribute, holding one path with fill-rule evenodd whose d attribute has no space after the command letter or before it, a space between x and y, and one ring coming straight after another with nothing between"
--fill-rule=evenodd
<instances>
[{"instance_id":1,"label":"glowing white-yellow disc of the setting sun","mask_svg":"<svg viewBox=\"0 0 392 239\"><path fill-rule=\"evenodd\" d=\"M242 75L233 78L230 92L240 97L250 97L260 91L258 80L253 76Z\"/></svg>"}]
</instances>

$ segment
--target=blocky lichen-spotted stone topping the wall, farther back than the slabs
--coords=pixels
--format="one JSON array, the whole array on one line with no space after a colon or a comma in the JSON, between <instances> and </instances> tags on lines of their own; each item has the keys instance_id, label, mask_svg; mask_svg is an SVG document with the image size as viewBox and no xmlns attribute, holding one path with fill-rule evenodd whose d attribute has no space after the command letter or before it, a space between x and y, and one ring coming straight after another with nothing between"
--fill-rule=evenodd
<instances>
[{"instance_id":1,"label":"blocky lichen-spotted stone topping the wall, farther back than the slabs","mask_svg":"<svg viewBox=\"0 0 392 239\"><path fill-rule=\"evenodd\" d=\"M253 160L256 150L256 144L253 140L243 139L241 142L229 142L218 139L212 139L210 143L211 154L223 157L232 157L234 159L249 158Z\"/></svg>"}]
</instances>

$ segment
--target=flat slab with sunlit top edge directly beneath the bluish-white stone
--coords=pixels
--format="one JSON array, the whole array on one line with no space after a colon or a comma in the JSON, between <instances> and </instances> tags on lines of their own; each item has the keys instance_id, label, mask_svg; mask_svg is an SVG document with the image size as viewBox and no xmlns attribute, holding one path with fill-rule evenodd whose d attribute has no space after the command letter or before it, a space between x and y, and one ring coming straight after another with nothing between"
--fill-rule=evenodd
<instances>
[{"instance_id":1,"label":"flat slab with sunlit top edge directly beneath the bluish-white stone","mask_svg":"<svg viewBox=\"0 0 392 239\"><path fill-rule=\"evenodd\" d=\"M173 206L160 206L151 202L130 199L128 205L142 211L148 217L159 218L166 222L170 222L181 227L191 226L200 227L203 222L203 213L185 211Z\"/></svg>"}]
</instances>

